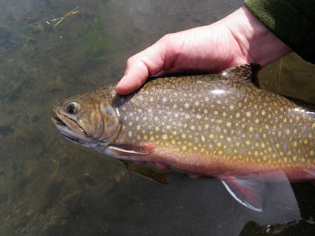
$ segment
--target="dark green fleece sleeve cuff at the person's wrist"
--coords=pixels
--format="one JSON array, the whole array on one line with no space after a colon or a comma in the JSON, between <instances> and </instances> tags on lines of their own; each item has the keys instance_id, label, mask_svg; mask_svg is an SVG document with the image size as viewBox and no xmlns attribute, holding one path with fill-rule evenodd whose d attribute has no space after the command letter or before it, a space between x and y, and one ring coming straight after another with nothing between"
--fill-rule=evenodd
<instances>
[{"instance_id":1,"label":"dark green fleece sleeve cuff at the person's wrist","mask_svg":"<svg viewBox=\"0 0 315 236\"><path fill-rule=\"evenodd\" d=\"M314 0L244 0L244 4L277 38L315 64Z\"/></svg>"}]
</instances>

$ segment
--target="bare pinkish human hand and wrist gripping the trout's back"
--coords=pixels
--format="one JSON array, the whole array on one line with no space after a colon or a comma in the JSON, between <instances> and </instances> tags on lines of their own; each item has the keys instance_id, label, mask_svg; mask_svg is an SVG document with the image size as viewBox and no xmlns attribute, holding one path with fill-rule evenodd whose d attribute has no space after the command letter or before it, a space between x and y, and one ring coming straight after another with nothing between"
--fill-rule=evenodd
<instances>
[{"instance_id":1,"label":"bare pinkish human hand and wrist gripping the trout's back","mask_svg":"<svg viewBox=\"0 0 315 236\"><path fill-rule=\"evenodd\" d=\"M290 52L286 44L242 7L212 25L168 34L130 57L116 92L134 92L151 75L218 73L249 62L264 67Z\"/></svg>"}]
</instances>

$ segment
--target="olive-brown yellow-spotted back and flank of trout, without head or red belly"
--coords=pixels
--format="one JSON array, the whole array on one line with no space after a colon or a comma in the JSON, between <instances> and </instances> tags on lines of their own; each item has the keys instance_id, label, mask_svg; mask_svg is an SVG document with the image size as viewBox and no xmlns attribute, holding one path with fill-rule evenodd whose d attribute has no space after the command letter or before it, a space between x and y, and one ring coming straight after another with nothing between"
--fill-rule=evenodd
<instances>
[{"instance_id":1,"label":"olive-brown yellow-spotted back and flank of trout, without head or red belly","mask_svg":"<svg viewBox=\"0 0 315 236\"><path fill-rule=\"evenodd\" d=\"M153 79L114 103L123 122L118 143L269 166L315 163L314 112L220 75Z\"/></svg>"}]
</instances>

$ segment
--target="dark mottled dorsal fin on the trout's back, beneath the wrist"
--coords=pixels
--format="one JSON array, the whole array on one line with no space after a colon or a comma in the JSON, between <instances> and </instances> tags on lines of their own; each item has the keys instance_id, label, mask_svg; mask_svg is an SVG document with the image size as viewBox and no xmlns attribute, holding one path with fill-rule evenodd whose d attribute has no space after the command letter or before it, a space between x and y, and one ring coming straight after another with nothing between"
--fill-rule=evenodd
<instances>
[{"instance_id":1,"label":"dark mottled dorsal fin on the trout's back, beneath the wrist","mask_svg":"<svg viewBox=\"0 0 315 236\"><path fill-rule=\"evenodd\" d=\"M260 88L260 84L258 81L258 71L260 70L260 64L242 64L238 66L234 66L231 68L227 68L223 70L220 75L231 79L237 79L238 81L242 81L244 83L253 83L255 86Z\"/></svg>"}]
</instances>

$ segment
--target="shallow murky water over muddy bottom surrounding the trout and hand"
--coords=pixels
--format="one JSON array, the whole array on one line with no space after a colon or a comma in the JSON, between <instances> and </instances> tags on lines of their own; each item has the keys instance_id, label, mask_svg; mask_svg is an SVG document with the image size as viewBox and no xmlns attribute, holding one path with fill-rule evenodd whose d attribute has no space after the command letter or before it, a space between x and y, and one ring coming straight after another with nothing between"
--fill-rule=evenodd
<instances>
[{"instance_id":1,"label":"shallow murky water over muddy bottom surrounding the trout and hand","mask_svg":"<svg viewBox=\"0 0 315 236\"><path fill-rule=\"evenodd\" d=\"M1 235L313 235L312 183L269 184L266 211L211 178L171 185L62 137L63 99L118 81L127 58L164 34L223 18L242 1L0 1ZM53 18L79 6L59 25ZM262 86L315 101L315 67L289 55ZM294 197L295 195L295 197Z\"/></svg>"}]
</instances>

